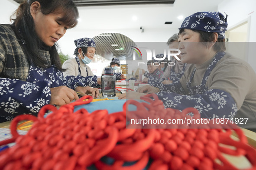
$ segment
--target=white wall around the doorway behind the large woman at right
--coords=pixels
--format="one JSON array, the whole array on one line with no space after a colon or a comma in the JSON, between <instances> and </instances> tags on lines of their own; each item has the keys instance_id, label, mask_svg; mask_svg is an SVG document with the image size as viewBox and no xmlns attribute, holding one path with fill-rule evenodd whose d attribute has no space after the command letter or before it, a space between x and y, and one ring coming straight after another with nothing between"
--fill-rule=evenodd
<instances>
[{"instance_id":1,"label":"white wall around the doorway behind the large woman at right","mask_svg":"<svg viewBox=\"0 0 256 170\"><path fill-rule=\"evenodd\" d=\"M256 71L256 0L224 0L218 5L218 11L227 13L228 29L249 20L249 55L247 62Z\"/></svg>"}]
</instances>

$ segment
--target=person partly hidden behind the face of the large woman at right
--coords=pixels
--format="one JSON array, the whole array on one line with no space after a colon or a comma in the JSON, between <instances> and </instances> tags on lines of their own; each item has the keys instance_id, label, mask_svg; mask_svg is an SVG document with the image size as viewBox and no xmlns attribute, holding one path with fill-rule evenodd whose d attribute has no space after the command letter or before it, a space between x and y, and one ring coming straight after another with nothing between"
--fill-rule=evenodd
<instances>
[{"instance_id":1,"label":"person partly hidden behind the face of the large woman at right","mask_svg":"<svg viewBox=\"0 0 256 170\"><path fill-rule=\"evenodd\" d=\"M168 39L166 43L170 49L178 49L178 33L172 35L171 38ZM171 53L177 53L177 51L171 51ZM180 55L177 56L181 59ZM172 82L177 82L181 79L184 72L188 69L191 65L190 63L183 63L176 58L172 60L172 63L175 63L173 66L167 66L163 76L162 76L162 84L171 84ZM159 85L155 85L157 87Z\"/></svg>"}]
</instances>

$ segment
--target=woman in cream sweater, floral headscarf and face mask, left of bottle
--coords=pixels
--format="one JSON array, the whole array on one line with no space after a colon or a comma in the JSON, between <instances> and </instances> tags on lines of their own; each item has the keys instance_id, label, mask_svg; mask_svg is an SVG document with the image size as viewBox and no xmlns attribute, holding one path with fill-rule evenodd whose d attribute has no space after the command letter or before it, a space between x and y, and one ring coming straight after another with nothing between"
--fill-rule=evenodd
<instances>
[{"instance_id":1,"label":"woman in cream sweater, floral headscarf and face mask, left of bottle","mask_svg":"<svg viewBox=\"0 0 256 170\"><path fill-rule=\"evenodd\" d=\"M97 79L97 76L94 76L91 68L87 65L96 56L96 44L91 38L79 38L74 42L76 46L75 58L66 60L62 65L62 68L66 69L63 75L68 82L68 87L98 87L100 78Z\"/></svg>"}]
</instances>

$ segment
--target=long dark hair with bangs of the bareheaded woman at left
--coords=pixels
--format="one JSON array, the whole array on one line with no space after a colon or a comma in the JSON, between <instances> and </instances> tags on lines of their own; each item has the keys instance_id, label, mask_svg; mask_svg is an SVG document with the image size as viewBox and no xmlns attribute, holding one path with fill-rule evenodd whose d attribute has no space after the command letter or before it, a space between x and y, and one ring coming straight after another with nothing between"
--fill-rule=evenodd
<instances>
[{"instance_id":1,"label":"long dark hair with bangs of the bareheaded woman at left","mask_svg":"<svg viewBox=\"0 0 256 170\"><path fill-rule=\"evenodd\" d=\"M30 13L30 6L35 1L40 3L41 12L45 15L49 13L63 13L64 17L60 21L68 25L69 28L75 27L78 23L78 9L72 0L29 0L22 3L13 14L13 16L16 14L16 19L11 19L14 21L16 34L19 35L18 30L23 34L26 42L26 53L32 63L45 68L45 59L39 56L39 50L44 49L49 51L51 64L55 64L56 68L60 71L65 71L61 67L61 61L58 56L58 45L55 43L52 47L48 47L36 34L34 20Z\"/></svg>"}]
</instances>

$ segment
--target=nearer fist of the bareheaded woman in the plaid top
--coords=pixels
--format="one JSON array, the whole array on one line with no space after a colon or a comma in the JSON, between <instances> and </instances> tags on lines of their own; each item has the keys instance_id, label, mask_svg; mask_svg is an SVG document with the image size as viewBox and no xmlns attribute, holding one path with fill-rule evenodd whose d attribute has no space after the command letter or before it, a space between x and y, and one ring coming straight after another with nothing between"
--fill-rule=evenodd
<instances>
[{"instance_id":1,"label":"nearer fist of the bareheaded woman in the plaid top","mask_svg":"<svg viewBox=\"0 0 256 170\"><path fill-rule=\"evenodd\" d=\"M69 104L74 99L78 100L78 94L71 88L68 88L67 86L50 88L50 90L51 90L50 104L56 104L57 106L62 106L64 104Z\"/></svg>"}]
</instances>

